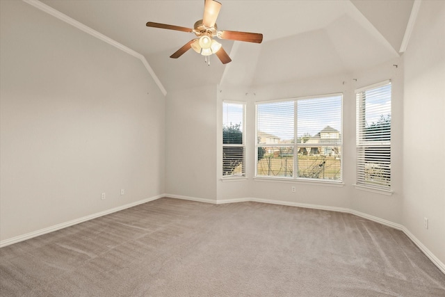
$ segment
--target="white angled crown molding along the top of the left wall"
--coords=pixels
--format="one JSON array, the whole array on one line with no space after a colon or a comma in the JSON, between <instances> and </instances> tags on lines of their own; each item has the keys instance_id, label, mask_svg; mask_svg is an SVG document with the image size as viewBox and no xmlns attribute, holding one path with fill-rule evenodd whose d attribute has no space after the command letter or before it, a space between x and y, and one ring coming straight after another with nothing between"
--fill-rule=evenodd
<instances>
[{"instance_id":1,"label":"white angled crown molding along the top of the left wall","mask_svg":"<svg viewBox=\"0 0 445 297\"><path fill-rule=\"evenodd\" d=\"M45 13L48 13L49 15L52 15L53 17L60 19L61 21L65 22L67 24L70 24L70 25L76 27L77 29L79 29L85 33L88 33L88 34L94 36L95 38L97 38L99 40L102 40L102 41L108 43L108 45L113 45L113 47L116 47L117 49L120 49L121 51L124 51L125 53L127 53L135 58L138 58L143 63L145 68L147 69L148 73L150 74L150 76L152 77L154 82L156 83L156 86L158 86L159 90L161 90L161 92L163 93L164 96L167 95L167 90L165 90L161 81L156 76L152 67L149 65L149 63L147 62L147 60L145 59L145 57L142 54L139 54L137 51L133 51L133 49L130 49L129 47L122 45L121 43L109 38L108 36L106 36L102 33L99 33L97 31L95 31L94 29L91 29L89 26L86 26L86 25L82 24L81 22L76 21L72 17L68 17L67 15L65 15L63 13L60 13L60 11L52 8L51 6L47 6L46 4L44 4L38 0L23 0L23 1L25 3L28 3L31 6L34 6L35 8L38 8L38 9L44 11Z\"/></svg>"}]
</instances>

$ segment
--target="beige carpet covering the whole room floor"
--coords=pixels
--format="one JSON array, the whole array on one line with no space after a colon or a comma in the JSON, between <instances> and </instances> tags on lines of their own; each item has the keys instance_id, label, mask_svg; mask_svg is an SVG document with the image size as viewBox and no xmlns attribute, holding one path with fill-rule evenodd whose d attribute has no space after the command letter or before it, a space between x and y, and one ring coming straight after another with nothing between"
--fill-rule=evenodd
<instances>
[{"instance_id":1,"label":"beige carpet covering the whole room floor","mask_svg":"<svg viewBox=\"0 0 445 297\"><path fill-rule=\"evenodd\" d=\"M0 249L1 296L445 296L401 231L350 214L162 198Z\"/></svg>"}]
</instances>

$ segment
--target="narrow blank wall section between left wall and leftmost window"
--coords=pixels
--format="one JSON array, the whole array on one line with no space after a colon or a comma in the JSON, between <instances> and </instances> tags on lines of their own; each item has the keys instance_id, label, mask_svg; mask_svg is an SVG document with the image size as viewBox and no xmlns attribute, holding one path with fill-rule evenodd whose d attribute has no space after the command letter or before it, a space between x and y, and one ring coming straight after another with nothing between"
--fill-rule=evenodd
<instances>
[{"instance_id":1,"label":"narrow blank wall section between left wall and leftmost window","mask_svg":"<svg viewBox=\"0 0 445 297\"><path fill-rule=\"evenodd\" d=\"M216 86L169 92L165 137L165 193L214 202Z\"/></svg>"}]
</instances>

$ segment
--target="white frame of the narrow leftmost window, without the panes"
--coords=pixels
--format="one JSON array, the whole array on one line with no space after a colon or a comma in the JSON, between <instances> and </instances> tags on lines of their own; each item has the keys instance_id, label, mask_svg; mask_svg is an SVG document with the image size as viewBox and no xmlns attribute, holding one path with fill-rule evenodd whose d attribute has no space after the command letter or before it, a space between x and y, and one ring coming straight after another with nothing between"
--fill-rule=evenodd
<instances>
[{"instance_id":1,"label":"white frame of the narrow leftmost window, without the panes","mask_svg":"<svg viewBox=\"0 0 445 297\"><path fill-rule=\"evenodd\" d=\"M242 107L243 107L243 111L242 111L242 125L241 125L241 127L242 127L242 144L225 144L224 143L224 114L225 114L225 104L238 104L238 105L241 105ZM246 102L242 102L242 101L234 101L234 100L223 100L223 104L222 104L222 106L223 106L223 111L222 111L222 118L223 118L223 120L222 120L222 132L223 132L223 135L221 136L221 142L222 142L222 150L221 150L221 153L222 153L222 156L221 156L221 159L222 159L222 172L220 172L220 175L221 175L221 179L222 180L225 180L225 181L228 181L228 180L234 180L234 179L245 179L246 178L246 166L245 166L245 161L246 161L246 158L245 158L245 150L246 150L246 145L245 145L245 141L246 141L246 136L245 136L245 134L246 134L246 131L247 131L247 129L246 129L246 121L245 121L245 119L246 119ZM236 173L236 174L231 174L231 175L225 175L224 174L224 148L225 147L243 147L243 164L242 164L242 172L241 173Z\"/></svg>"}]
</instances>

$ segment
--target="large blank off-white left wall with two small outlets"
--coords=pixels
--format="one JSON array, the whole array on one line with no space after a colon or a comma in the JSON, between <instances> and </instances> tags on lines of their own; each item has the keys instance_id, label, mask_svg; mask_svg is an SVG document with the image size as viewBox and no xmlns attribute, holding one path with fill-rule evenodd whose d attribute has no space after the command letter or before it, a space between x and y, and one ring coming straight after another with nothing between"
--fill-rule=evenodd
<instances>
[{"instance_id":1,"label":"large blank off-white left wall with two small outlets","mask_svg":"<svg viewBox=\"0 0 445 297\"><path fill-rule=\"evenodd\" d=\"M1 241L161 195L164 98L143 64L0 2Z\"/></svg>"}]
</instances>

